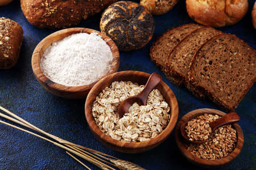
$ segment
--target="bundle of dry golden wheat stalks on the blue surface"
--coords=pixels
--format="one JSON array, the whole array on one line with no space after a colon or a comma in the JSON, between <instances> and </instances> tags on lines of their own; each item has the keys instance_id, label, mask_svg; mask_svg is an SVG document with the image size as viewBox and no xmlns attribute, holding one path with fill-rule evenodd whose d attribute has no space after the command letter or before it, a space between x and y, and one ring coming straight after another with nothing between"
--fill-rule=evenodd
<instances>
[{"instance_id":1,"label":"bundle of dry golden wheat stalks on the blue surface","mask_svg":"<svg viewBox=\"0 0 256 170\"><path fill-rule=\"evenodd\" d=\"M35 130L35 131L38 131L39 133L42 133L44 135L47 135L48 137L54 139L55 141L59 142L59 143L62 143L63 145L60 145L59 143L57 142L54 142L54 141L51 141L50 139L47 139L47 138L44 138L38 134L35 134L35 133L32 133L31 131L28 131L28 130L25 130L25 129L22 129L22 128L19 128L18 126L14 126L14 125L11 125L7 122L4 122L4 121L1 121L0 120L0 123L2 124L5 124L5 125L8 125L8 126L11 126L15 129L18 129L18 130L22 130L26 133L29 133L29 134L32 134L32 135L35 135L36 137L39 137L39 138L42 138L48 142L51 142L53 143L54 145L56 146L59 146L61 148L64 148L65 150L69 151L69 152L72 152L72 154L75 154L77 156L80 156L80 158L83 158L85 160L87 160L88 162L96 165L97 167L101 168L101 169L110 169L110 170L114 170L113 167L110 167L109 165L113 165L114 167L117 167L119 169L127 169L127 170L130 170L130 169L135 169L135 170L144 170L144 168L141 168L139 167L138 165L136 164L133 164L133 163L130 163L130 162L127 162L126 160L121 160L121 159L118 159L118 158L115 158L114 156L111 156L111 155L108 155L108 154L104 154L103 152L99 152L99 151L96 151L96 150L92 150L90 148L86 148L86 147L83 147L83 146L80 146L80 145L76 145L75 143L71 143L71 142L68 142L68 141L65 141L64 139L61 139L59 137L56 137L52 134L49 134L47 133L46 131L43 131L39 128L37 128L36 126L30 124L29 122L23 120L22 118L20 118L19 116L16 116L16 114L14 113L11 113L10 111L8 111L7 109L3 108L0 106L0 109L8 114L10 114L10 116L13 116L14 118L12 117L9 117L9 116L6 116L5 114L3 113L0 113L0 117L3 117L3 118L6 118L7 120L10 120L10 121L13 121L15 122L16 124L19 124L19 125L22 125L22 126L25 126L26 128L29 128L29 129L32 129L32 130ZM15 119L16 118L16 119ZM65 146L64 146L65 145ZM67 153L69 154L69 153ZM70 156L72 156L73 159L76 159L75 156L69 154ZM103 159L101 159L103 158ZM104 160L105 159L105 160ZM87 167L85 164L83 164L82 162L80 162L80 160L76 159L77 162L81 163L82 165L84 165L86 168L89 168ZM108 160L108 161L106 161ZM105 163L108 163L109 165L105 164Z\"/></svg>"}]
</instances>

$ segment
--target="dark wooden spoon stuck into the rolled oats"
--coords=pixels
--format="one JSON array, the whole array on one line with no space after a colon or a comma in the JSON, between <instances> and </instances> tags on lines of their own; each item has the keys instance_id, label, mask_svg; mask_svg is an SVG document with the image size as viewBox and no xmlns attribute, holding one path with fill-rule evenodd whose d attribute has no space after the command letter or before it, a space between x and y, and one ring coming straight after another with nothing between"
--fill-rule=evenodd
<instances>
[{"instance_id":1,"label":"dark wooden spoon stuck into the rolled oats","mask_svg":"<svg viewBox=\"0 0 256 170\"><path fill-rule=\"evenodd\" d=\"M157 73L152 73L150 78L147 80L146 86L138 95L123 100L123 102L119 105L117 111L119 118L122 118L125 113L128 113L129 108L134 103L138 103L138 105L146 105L147 96L161 82L161 80L162 76Z\"/></svg>"}]
</instances>

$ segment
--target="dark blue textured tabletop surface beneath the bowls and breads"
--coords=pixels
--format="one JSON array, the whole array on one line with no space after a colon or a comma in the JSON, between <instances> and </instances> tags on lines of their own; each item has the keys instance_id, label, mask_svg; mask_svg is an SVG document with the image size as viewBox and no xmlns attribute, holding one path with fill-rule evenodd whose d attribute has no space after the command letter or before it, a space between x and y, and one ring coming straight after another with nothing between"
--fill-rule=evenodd
<instances>
[{"instance_id":1,"label":"dark blue textured tabletop surface beneath the bowls and breads","mask_svg":"<svg viewBox=\"0 0 256 170\"><path fill-rule=\"evenodd\" d=\"M251 24L251 9L254 0L249 1L249 11L245 18L230 27L220 28L233 33L256 48L256 31ZM24 40L20 58L10 70L0 70L0 105L18 114L35 126L73 143L129 160L147 169L198 169L187 162L177 149L174 133L162 145L142 154L122 154L102 145L90 131L84 114L84 100L68 100L46 91L32 73L31 55L35 46L47 35L57 30L38 29L27 22L20 10L19 1L0 7L0 16L18 22L24 30ZM99 29L101 14L85 20L77 27ZM170 12L154 16L155 33L144 48L133 52L122 52L119 70L139 70L156 72L174 91L179 103L179 118L185 113L199 108L220 109L211 101L198 100L185 88L177 88L150 61L148 56L152 41L172 27L193 21L187 15L184 0ZM236 112L245 135L241 154L222 169L256 169L256 104L255 84L241 101ZM92 169L92 164L86 163ZM30 134L0 125L0 169L83 169L82 165L65 154L64 150L36 138Z\"/></svg>"}]
</instances>

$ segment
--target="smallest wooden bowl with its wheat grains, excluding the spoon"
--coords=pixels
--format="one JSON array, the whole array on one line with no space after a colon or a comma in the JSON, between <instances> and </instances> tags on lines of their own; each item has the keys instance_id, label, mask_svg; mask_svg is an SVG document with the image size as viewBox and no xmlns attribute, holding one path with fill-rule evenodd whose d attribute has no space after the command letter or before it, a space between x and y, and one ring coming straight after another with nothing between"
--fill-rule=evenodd
<instances>
[{"instance_id":1,"label":"smallest wooden bowl with its wheat grains, excluding the spoon","mask_svg":"<svg viewBox=\"0 0 256 170\"><path fill-rule=\"evenodd\" d=\"M232 162L240 154L243 147L243 132L237 123L217 128L203 144L187 143L181 135L180 126L184 122L191 121L198 125L201 122L203 124L214 121L225 114L216 109L196 109L180 119L175 130L175 140L189 162L203 167L220 167ZM187 126L191 126L189 134L199 133L197 126Z\"/></svg>"}]
</instances>

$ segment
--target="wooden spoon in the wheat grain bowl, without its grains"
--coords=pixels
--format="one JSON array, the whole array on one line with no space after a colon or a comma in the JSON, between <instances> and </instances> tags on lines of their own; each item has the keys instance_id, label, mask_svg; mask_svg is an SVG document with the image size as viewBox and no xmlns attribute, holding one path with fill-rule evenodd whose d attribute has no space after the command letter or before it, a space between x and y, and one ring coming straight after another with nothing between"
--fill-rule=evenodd
<instances>
[{"instance_id":1,"label":"wooden spoon in the wheat grain bowl, without its grains","mask_svg":"<svg viewBox=\"0 0 256 170\"><path fill-rule=\"evenodd\" d=\"M230 112L228 114L226 114L225 116L222 116L221 118L218 118L216 121L213 122L209 122L209 126L210 128L212 128L212 132L209 134L212 135L213 131L222 126L222 125L226 125L226 124L230 124L230 123L234 123L234 122L238 122L240 121L240 117L238 116L238 114L236 112ZM187 136L187 133L185 132L185 127L187 126L188 122L184 122L181 126L180 126L180 131L181 131L181 135L183 136L184 139L186 139L187 142L190 143L196 143L196 144L201 144L201 143L205 143L207 140L202 140L202 141L190 141L189 137Z\"/></svg>"}]
</instances>

